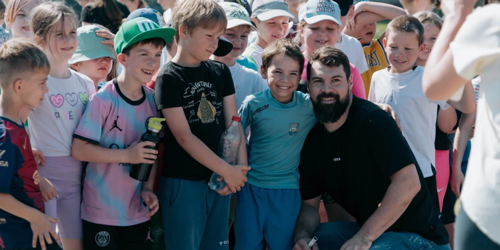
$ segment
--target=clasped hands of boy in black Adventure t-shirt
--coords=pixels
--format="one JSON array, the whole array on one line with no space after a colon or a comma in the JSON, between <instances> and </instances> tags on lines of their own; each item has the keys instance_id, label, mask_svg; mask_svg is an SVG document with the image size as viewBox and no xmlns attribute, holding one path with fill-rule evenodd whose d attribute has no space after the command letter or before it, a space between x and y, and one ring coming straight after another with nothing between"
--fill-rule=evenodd
<instances>
[{"instance_id":1,"label":"clasped hands of boy in black Adventure t-shirt","mask_svg":"<svg viewBox=\"0 0 500 250\"><path fill-rule=\"evenodd\" d=\"M241 187L244 186L247 181L246 172L248 170L250 170L250 167L247 165L234 165L221 173L219 180L223 179L225 181L225 186L217 190L217 193L227 195L241 190Z\"/></svg>"}]
</instances>

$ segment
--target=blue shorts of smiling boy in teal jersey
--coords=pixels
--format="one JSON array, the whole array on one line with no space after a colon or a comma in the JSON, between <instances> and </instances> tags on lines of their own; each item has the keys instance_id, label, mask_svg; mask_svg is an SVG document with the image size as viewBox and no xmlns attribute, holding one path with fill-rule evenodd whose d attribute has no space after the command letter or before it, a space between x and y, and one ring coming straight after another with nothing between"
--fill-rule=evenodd
<instances>
[{"instance_id":1,"label":"blue shorts of smiling boy in teal jersey","mask_svg":"<svg viewBox=\"0 0 500 250\"><path fill-rule=\"evenodd\" d=\"M237 250L289 250L300 211L299 189L270 189L246 183L236 195Z\"/></svg>"}]
</instances>

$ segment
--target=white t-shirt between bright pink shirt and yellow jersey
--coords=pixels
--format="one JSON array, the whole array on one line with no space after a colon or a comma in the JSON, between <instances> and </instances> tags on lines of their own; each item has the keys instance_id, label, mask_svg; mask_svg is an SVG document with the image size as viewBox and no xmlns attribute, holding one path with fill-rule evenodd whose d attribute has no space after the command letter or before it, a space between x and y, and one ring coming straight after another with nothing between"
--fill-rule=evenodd
<instances>
[{"instance_id":1,"label":"white t-shirt between bright pink shirt and yellow jersey","mask_svg":"<svg viewBox=\"0 0 500 250\"><path fill-rule=\"evenodd\" d=\"M349 58L349 62L356 66L359 73L362 74L368 70L368 63L366 62L366 57L364 56L363 46L354 37L348 36L341 33L342 41L337 41L335 43L336 48L342 50Z\"/></svg>"}]
</instances>

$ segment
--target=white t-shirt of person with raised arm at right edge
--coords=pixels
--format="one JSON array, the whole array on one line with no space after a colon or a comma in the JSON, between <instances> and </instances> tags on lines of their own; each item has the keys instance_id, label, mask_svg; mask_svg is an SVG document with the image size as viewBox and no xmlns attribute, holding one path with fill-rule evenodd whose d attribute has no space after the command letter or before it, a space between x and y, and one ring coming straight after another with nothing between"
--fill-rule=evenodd
<instances>
[{"instance_id":1,"label":"white t-shirt of person with raised arm at right edge","mask_svg":"<svg viewBox=\"0 0 500 250\"><path fill-rule=\"evenodd\" d=\"M464 211L500 244L500 4L478 7L456 34L450 49L455 71L465 79L481 75L474 144L461 191Z\"/></svg>"}]
</instances>

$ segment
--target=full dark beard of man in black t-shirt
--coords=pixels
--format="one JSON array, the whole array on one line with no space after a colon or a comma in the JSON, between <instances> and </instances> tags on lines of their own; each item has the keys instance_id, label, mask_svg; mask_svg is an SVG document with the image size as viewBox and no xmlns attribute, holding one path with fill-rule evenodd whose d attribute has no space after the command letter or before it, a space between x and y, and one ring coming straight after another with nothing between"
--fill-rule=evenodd
<instances>
[{"instance_id":1,"label":"full dark beard of man in black t-shirt","mask_svg":"<svg viewBox=\"0 0 500 250\"><path fill-rule=\"evenodd\" d=\"M325 97L335 98L336 101L330 104L322 103L321 98ZM349 102L350 89L347 91L347 94L343 99L340 99L340 96L336 93L319 93L316 96L316 99L312 100L312 108L314 109L316 120L320 123L336 122L338 119L340 119L340 116L345 113Z\"/></svg>"}]
</instances>

